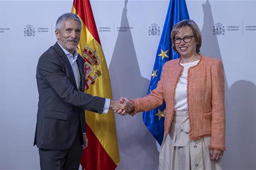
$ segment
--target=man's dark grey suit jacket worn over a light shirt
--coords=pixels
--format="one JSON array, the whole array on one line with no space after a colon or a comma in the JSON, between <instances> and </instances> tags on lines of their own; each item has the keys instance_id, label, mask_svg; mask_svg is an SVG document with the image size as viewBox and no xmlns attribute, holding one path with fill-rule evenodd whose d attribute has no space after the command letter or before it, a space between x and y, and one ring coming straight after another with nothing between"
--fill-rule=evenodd
<instances>
[{"instance_id":1,"label":"man's dark grey suit jacket worn over a light shirt","mask_svg":"<svg viewBox=\"0 0 256 170\"><path fill-rule=\"evenodd\" d=\"M49 47L38 60L36 82L39 101L34 144L39 148L69 148L77 132L81 136L85 132L84 109L97 113L103 110L105 98L83 92L85 81L80 55L76 62L82 75L80 91L70 62L58 43Z\"/></svg>"}]
</instances>

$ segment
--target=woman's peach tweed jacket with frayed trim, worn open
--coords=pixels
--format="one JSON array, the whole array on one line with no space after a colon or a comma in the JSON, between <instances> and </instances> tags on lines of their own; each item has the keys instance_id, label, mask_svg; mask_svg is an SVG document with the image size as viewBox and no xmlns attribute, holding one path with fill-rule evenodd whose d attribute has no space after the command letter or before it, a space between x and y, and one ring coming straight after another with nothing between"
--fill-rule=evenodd
<instances>
[{"instance_id":1,"label":"woman's peach tweed jacket with frayed trim, worn open","mask_svg":"<svg viewBox=\"0 0 256 170\"><path fill-rule=\"evenodd\" d=\"M148 111L165 101L164 131L169 132L174 96L183 66L180 59L163 65L157 87L147 96L131 100L134 113ZM199 62L187 72L187 109L191 140L211 136L210 148L225 150L224 76L222 62L216 58L200 56Z\"/></svg>"}]
</instances>

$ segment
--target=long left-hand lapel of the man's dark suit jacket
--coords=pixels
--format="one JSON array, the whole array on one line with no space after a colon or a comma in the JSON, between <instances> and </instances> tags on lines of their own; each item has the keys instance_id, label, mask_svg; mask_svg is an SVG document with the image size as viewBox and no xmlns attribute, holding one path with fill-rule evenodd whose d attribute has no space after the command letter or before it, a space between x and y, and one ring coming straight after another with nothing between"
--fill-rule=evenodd
<instances>
[{"instance_id":1,"label":"long left-hand lapel of the man's dark suit jacket","mask_svg":"<svg viewBox=\"0 0 256 170\"><path fill-rule=\"evenodd\" d=\"M66 56L66 54L64 53L64 51L62 50L62 48L59 46L59 44L56 42L53 46L54 50L59 54L59 56L64 60L65 62L65 66L67 68L67 76L69 76L72 79L73 85L76 87L76 83L75 83L75 78L74 78L74 73L73 73L73 69L71 67L71 64Z\"/></svg>"}]
</instances>

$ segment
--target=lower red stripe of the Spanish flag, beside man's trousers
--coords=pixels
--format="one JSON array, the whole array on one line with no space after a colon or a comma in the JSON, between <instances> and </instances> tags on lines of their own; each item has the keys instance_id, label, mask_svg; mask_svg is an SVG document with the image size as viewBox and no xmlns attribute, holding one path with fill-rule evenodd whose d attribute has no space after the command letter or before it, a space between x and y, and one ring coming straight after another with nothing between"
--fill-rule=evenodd
<instances>
[{"instance_id":1,"label":"lower red stripe of the Spanish flag, beside man's trousers","mask_svg":"<svg viewBox=\"0 0 256 170\"><path fill-rule=\"evenodd\" d=\"M116 164L113 162L111 157L109 157L87 123L86 136L88 138L88 146L82 152L80 161L82 167L86 170L115 169Z\"/></svg>"}]
</instances>

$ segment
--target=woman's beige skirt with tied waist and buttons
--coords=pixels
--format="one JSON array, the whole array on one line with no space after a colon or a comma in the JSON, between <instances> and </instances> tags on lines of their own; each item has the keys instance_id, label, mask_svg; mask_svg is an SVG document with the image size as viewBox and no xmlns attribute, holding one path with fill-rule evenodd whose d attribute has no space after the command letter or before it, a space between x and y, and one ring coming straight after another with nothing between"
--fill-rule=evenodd
<instances>
[{"instance_id":1,"label":"woman's beige skirt with tied waist and buttons","mask_svg":"<svg viewBox=\"0 0 256 170\"><path fill-rule=\"evenodd\" d=\"M220 159L210 160L210 136L189 139L187 114L177 113L169 133L164 134L158 169L222 169Z\"/></svg>"}]
</instances>

